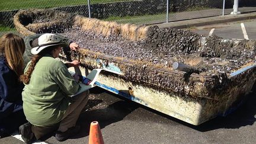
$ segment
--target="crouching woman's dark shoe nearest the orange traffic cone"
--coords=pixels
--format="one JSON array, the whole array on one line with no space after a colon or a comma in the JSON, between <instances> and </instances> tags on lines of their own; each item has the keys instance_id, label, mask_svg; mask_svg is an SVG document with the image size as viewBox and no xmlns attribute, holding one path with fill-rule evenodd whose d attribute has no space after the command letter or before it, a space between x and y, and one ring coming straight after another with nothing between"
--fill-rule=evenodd
<instances>
[{"instance_id":1,"label":"crouching woman's dark shoe nearest the orange traffic cone","mask_svg":"<svg viewBox=\"0 0 256 144\"><path fill-rule=\"evenodd\" d=\"M80 126L74 126L69 128L66 132L56 132L55 138L59 142L69 139L69 137L76 135L80 130Z\"/></svg>"}]
</instances>

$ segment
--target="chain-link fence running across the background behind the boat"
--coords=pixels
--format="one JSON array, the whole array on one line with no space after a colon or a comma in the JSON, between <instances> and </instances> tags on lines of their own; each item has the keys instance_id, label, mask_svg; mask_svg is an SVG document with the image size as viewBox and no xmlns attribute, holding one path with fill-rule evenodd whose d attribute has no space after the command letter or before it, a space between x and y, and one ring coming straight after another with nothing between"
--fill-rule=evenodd
<instances>
[{"instance_id":1,"label":"chain-link fence running across the background behind the boat","mask_svg":"<svg viewBox=\"0 0 256 144\"><path fill-rule=\"evenodd\" d=\"M233 3L234 0L0 0L0 31L15 30L12 17L18 9L51 8L117 23L156 24L230 14ZM255 6L255 0L239 0L242 13L256 11Z\"/></svg>"}]
</instances>

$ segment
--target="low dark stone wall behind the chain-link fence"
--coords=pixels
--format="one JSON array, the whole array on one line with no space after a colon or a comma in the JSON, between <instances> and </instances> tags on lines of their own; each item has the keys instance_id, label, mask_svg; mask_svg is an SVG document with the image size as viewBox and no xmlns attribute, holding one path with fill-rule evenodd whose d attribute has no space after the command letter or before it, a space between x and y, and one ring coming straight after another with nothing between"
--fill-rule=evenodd
<instances>
[{"instance_id":1,"label":"low dark stone wall behind the chain-link fence","mask_svg":"<svg viewBox=\"0 0 256 144\"><path fill-rule=\"evenodd\" d=\"M231 0L227 0L231 1ZM93 18L108 18L111 16L124 17L145 14L161 14L166 12L166 0L143 0L131 2L113 2L107 4L94 4L91 5L91 17ZM227 3L228 7L231 3ZM194 7L203 8L222 8L222 3L213 0L170 0L169 12L187 11ZM54 9L75 12L77 14L88 17L88 6L67 6L57 7Z\"/></svg>"}]
</instances>

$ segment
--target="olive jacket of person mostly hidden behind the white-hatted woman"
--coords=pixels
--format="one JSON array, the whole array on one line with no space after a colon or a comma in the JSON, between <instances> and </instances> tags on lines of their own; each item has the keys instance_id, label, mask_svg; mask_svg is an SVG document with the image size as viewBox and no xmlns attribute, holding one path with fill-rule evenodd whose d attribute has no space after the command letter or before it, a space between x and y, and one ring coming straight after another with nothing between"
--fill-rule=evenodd
<instances>
[{"instance_id":1,"label":"olive jacket of person mostly hidden behind the white-hatted woman","mask_svg":"<svg viewBox=\"0 0 256 144\"><path fill-rule=\"evenodd\" d=\"M30 36L25 37L24 42L25 42L25 52L23 54L23 59L24 59L24 66L27 65L28 62L30 62L31 57L33 57L33 54L31 53L31 49L33 47L31 47L31 43L34 39L37 39L41 36L42 34L33 34ZM70 41L67 37L63 37L59 34L56 34L57 36L59 36L62 41L64 43L66 43L67 46L69 46L70 43L72 43L72 41Z\"/></svg>"}]
</instances>

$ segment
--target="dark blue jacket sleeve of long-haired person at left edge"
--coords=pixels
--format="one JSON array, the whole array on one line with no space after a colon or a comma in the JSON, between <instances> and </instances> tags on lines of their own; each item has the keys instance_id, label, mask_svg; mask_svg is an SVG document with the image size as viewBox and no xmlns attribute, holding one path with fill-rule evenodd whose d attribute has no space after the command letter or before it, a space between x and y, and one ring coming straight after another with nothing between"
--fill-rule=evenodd
<instances>
[{"instance_id":1,"label":"dark blue jacket sleeve of long-haired person at left edge","mask_svg":"<svg viewBox=\"0 0 256 144\"><path fill-rule=\"evenodd\" d=\"M14 71L5 67L0 72L0 97L9 103L21 101L21 92L24 84L18 81L18 76Z\"/></svg>"}]
</instances>

